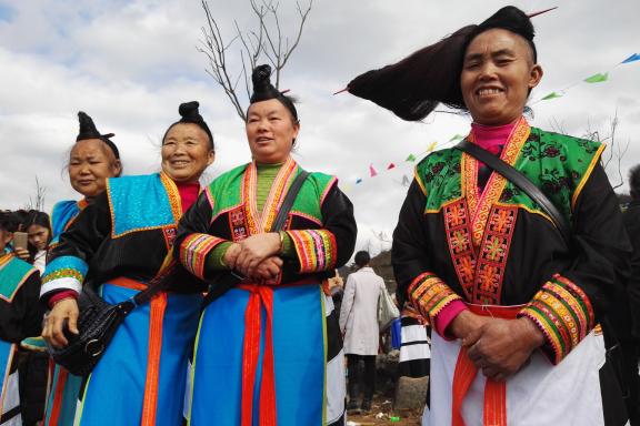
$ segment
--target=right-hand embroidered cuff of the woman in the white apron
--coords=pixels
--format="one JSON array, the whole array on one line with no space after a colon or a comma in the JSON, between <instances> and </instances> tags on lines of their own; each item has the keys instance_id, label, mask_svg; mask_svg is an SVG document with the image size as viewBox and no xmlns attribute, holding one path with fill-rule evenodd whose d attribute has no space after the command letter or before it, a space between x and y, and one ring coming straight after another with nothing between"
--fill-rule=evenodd
<instances>
[{"instance_id":1,"label":"right-hand embroidered cuff of the woman in the white apron","mask_svg":"<svg viewBox=\"0 0 640 426\"><path fill-rule=\"evenodd\" d=\"M593 328L593 307L582 288L556 274L518 316L527 316L542 331L542 347L553 364L561 362Z\"/></svg>"}]
</instances>

